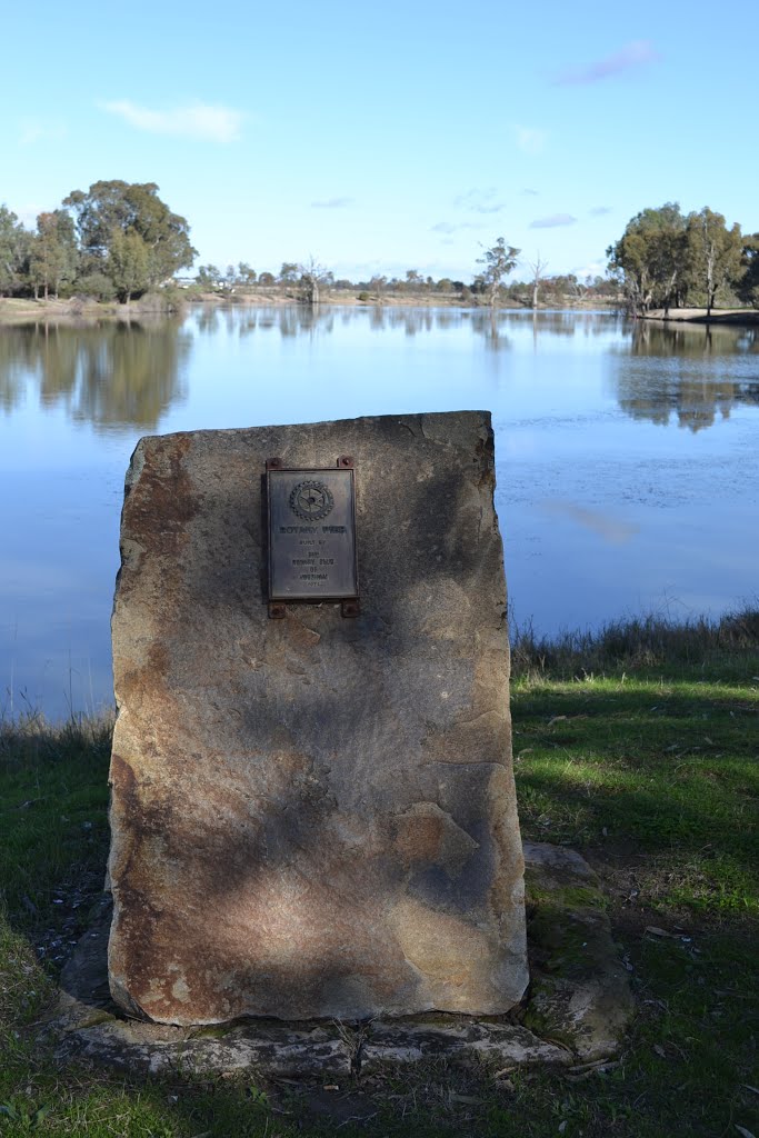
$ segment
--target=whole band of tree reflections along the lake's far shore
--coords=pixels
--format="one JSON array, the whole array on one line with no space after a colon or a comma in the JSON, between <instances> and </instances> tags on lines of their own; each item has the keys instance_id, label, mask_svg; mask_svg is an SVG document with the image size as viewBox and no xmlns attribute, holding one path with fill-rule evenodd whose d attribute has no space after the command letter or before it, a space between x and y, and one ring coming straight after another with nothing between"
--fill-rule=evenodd
<instances>
[{"instance_id":1,"label":"whole band of tree reflections along the lake's far shore","mask_svg":"<svg viewBox=\"0 0 759 1138\"><path fill-rule=\"evenodd\" d=\"M237 305L193 308L185 323L6 327L0 333L0 407L10 414L36 389L42 410L63 407L71 419L96 429L155 430L185 398L185 369L198 338L209 339L216 353L224 338L279 336L292 343L320 335L335 337L335 351L365 353L369 339L363 347L360 339L341 339L348 325L416 339L418 352L438 336L451 337L452 344L471 338L497 364L498 384L510 381L509 361L526 347L536 356L542 346L547 353L566 345L561 352L568 356L596 352L604 382L625 414L662 426L674 421L693 432L726 419L736 404L759 404L757 328L628 322L607 312ZM586 347L588 340L597 343ZM257 347L253 343L250 353ZM365 354L356 358L365 370Z\"/></svg>"}]
</instances>

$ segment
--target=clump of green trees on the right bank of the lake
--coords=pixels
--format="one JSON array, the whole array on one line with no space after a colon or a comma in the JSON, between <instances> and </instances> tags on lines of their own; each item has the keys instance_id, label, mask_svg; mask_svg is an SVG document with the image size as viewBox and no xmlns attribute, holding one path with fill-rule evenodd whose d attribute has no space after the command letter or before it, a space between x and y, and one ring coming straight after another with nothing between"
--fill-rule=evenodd
<instances>
[{"instance_id":1,"label":"clump of green trees on the right bank of the lake","mask_svg":"<svg viewBox=\"0 0 759 1138\"><path fill-rule=\"evenodd\" d=\"M743 234L708 206L643 209L607 249L609 273L637 314L652 308L759 307L759 233Z\"/></svg>"}]
</instances>

